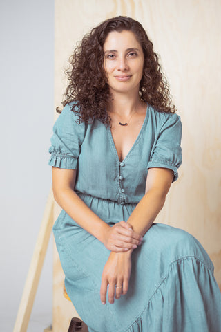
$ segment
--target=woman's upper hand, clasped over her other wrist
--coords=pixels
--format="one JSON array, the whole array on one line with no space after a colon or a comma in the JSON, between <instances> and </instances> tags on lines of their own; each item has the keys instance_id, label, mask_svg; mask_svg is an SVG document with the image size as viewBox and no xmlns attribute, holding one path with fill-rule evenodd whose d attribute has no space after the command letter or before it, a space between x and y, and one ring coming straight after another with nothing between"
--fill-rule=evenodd
<instances>
[{"instance_id":1,"label":"woman's upper hand, clasped over her other wrist","mask_svg":"<svg viewBox=\"0 0 221 332\"><path fill-rule=\"evenodd\" d=\"M137 248L142 239L142 235L133 232L130 224L120 221L105 231L104 246L113 252L125 252Z\"/></svg>"}]
</instances>

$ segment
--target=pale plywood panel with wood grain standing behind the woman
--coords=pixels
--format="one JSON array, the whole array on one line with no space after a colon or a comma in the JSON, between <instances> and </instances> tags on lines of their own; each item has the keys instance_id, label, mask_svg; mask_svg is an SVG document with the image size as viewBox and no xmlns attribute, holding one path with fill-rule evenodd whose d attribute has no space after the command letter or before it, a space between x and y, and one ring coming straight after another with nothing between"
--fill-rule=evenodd
<instances>
[{"instance_id":1,"label":"pale plywood panel with wood grain standing behind the woman","mask_svg":"<svg viewBox=\"0 0 221 332\"><path fill-rule=\"evenodd\" d=\"M56 0L55 15L55 105L66 88L68 57L90 28L117 15L143 24L183 125L180 177L157 222L183 228L202 243L221 287L220 0Z\"/></svg>"}]
</instances>

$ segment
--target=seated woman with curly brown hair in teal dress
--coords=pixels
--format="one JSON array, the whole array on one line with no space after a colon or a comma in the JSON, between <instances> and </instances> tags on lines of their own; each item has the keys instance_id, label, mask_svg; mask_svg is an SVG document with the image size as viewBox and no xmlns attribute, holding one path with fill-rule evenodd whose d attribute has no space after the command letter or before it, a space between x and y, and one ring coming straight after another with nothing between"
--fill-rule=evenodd
<instances>
[{"instance_id":1,"label":"seated woman with curly brown hair in teal dress","mask_svg":"<svg viewBox=\"0 0 221 332\"><path fill-rule=\"evenodd\" d=\"M49 165L75 308L89 331L221 331L208 255L183 230L153 224L182 162L180 117L153 44L140 23L115 17L70 63Z\"/></svg>"}]
</instances>

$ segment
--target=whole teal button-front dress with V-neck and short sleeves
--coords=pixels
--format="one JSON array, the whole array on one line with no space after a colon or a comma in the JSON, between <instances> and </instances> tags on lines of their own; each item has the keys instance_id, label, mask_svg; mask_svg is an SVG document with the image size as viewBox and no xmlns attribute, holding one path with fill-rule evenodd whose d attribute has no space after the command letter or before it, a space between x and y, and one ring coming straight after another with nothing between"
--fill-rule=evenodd
<instances>
[{"instance_id":1,"label":"whole teal button-front dress with V-neck and short sleeves","mask_svg":"<svg viewBox=\"0 0 221 332\"><path fill-rule=\"evenodd\" d=\"M75 192L108 225L128 220L144 196L149 168L172 169L177 179L179 116L147 105L142 129L120 161L110 127L99 120L77 124L70 106L53 127L49 165L77 169ZM53 232L66 291L90 332L221 331L213 264L191 234L154 223L133 250L128 293L102 305L99 290L110 251L64 210Z\"/></svg>"}]
</instances>

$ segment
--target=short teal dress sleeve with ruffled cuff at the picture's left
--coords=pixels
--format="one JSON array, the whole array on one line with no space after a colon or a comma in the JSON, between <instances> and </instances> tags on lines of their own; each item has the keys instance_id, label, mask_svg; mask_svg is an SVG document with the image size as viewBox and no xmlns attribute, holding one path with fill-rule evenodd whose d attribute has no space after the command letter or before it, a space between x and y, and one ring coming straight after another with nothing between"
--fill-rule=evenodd
<instances>
[{"instance_id":1,"label":"short teal dress sleeve with ruffled cuff at the picture's left","mask_svg":"<svg viewBox=\"0 0 221 332\"><path fill-rule=\"evenodd\" d=\"M77 124L78 116L71 111L70 107L71 104L66 104L54 124L48 165L77 169L81 144L84 140L85 124L84 122Z\"/></svg>"}]
</instances>

